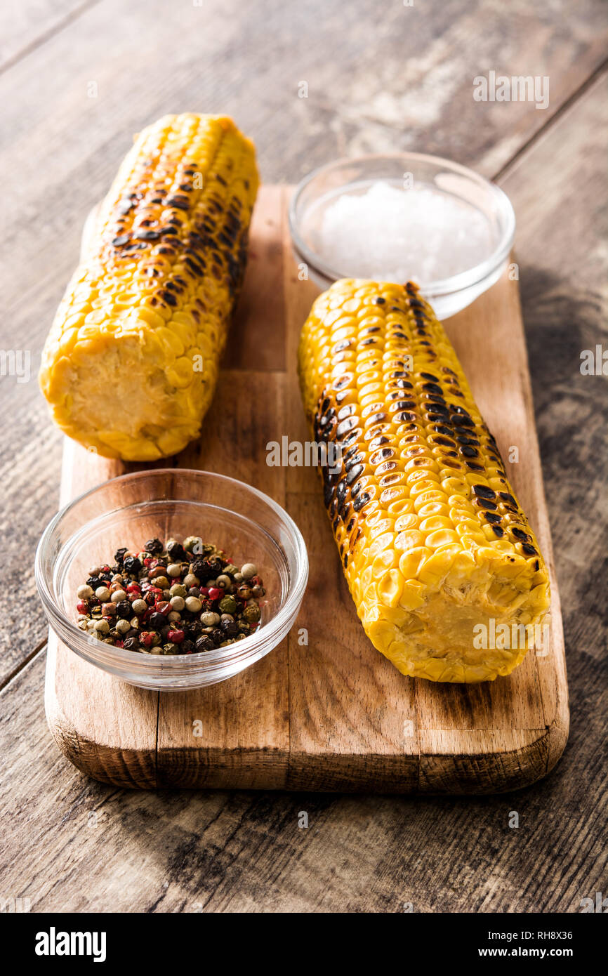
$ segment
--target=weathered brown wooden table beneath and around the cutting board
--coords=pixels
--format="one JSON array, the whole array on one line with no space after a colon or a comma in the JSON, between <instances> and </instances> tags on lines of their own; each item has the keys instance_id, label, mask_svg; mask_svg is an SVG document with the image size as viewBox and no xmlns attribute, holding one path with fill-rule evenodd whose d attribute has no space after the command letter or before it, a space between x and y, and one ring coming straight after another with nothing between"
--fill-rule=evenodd
<instances>
[{"instance_id":1,"label":"weathered brown wooden table beneath and around the cutting board","mask_svg":"<svg viewBox=\"0 0 608 976\"><path fill-rule=\"evenodd\" d=\"M13 0L0 20L0 345L31 355L29 382L0 378L2 897L29 898L32 911L579 911L605 880L606 385L580 371L583 350L606 346L601 0ZM547 76L548 107L475 102L473 78L490 70ZM232 114L266 182L412 148L507 190L571 696L569 745L546 781L450 800L132 793L84 779L51 741L33 573L12 590L58 503L61 436L35 382L40 348L82 222L132 134L187 109Z\"/></svg>"}]
</instances>

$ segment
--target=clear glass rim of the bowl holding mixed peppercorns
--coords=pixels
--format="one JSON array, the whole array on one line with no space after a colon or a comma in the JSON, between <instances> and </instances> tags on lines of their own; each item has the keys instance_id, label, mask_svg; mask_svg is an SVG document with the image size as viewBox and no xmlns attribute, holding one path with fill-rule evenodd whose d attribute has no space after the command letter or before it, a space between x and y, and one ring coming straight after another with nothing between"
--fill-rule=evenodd
<instances>
[{"instance_id":1,"label":"clear glass rim of the bowl holding mixed peppercorns","mask_svg":"<svg viewBox=\"0 0 608 976\"><path fill-rule=\"evenodd\" d=\"M268 623L259 630L256 630L243 640L238 640L234 644L228 644L226 647L214 648L212 651L200 651L196 653L193 652L191 654L147 655L142 654L141 651L130 651L124 647L115 647L111 644L103 644L102 641L96 641L96 643L92 645L84 631L80 630L74 621L63 613L55 600L54 588L49 584L46 575L42 571L42 560L45 550L53 538L53 534L57 530L61 519L64 518L72 508L74 508L84 499L91 495L95 495L96 492L107 487L109 484L169 474L186 474L193 475L195 477L207 475L219 481L229 482L232 485L238 485L239 488L251 495L256 496L266 506L268 506L268 508L271 508L274 511L274 513L288 529L296 553L297 574L287 591L285 602L279 608L275 616L272 617L271 620L269 620ZM169 499L168 501L180 500ZM145 505L145 502L137 504ZM120 508L125 507L118 507L118 509ZM230 511L232 509L228 508L226 510ZM253 521L253 519L251 521L254 525L258 525L258 523ZM84 526L87 524L89 524L89 522L85 522L81 528L84 528ZM261 526L259 527L264 534L269 535L265 529L263 529ZM73 534L69 538L72 539ZM66 543L63 544L61 549L63 549L65 545ZM70 636L73 637L73 642L76 645L75 647L70 647L67 645L69 649L74 651L76 654L79 654L81 657L86 658L86 660L90 661L92 664L102 667L100 660L98 660L98 655L92 654L91 649L95 647L96 649L99 649L102 656L108 661L114 661L115 663L121 663L122 665L137 666L135 671L142 670L145 672L157 671L159 669L162 669L162 671L179 671L184 666L194 671L197 665L203 666L203 668L214 665L230 665L236 661L243 661L249 657L255 657L265 644L270 643L274 634L283 630L290 617L295 618L300 603L304 597L304 590L308 580L308 553L303 535L289 512L287 512L285 508L282 508L278 502L275 502L274 499L270 498L269 495L266 495L258 488L254 488L253 485L249 485L244 481L239 481L237 478L229 477L226 474L218 474L216 471L201 470L199 468L150 468L142 471L130 471L126 474L120 474L113 478L107 478L99 485L95 485L95 487L87 489L87 491L82 492L76 498L68 502L67 505L63 506L53 516L40 537L34 558L34 577L38 594L42 600L46 614L51 623L51 627L53 630L55 630L53 627L53 623L55 621L61 625L61 629L67 629ZM65 643L61 633L58 633L57 630L55 630L55 632L61 642ZM274 646L274 644L272 644L272 646ZM268 648L268 650L270 649L271 647Z\"/></svg>"}]
</instances>

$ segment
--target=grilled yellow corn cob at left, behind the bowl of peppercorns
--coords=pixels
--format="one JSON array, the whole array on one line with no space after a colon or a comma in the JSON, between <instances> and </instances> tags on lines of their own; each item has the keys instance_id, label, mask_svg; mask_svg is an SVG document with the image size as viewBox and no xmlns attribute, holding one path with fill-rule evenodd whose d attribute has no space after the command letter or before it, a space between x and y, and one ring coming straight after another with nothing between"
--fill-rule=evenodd
<instances>
[{"instance_id":1,"label":"grilled yellow corn cob at left, behind the bowl of peppercorns","mask_svg":"<svg viewBox=\"0 0 608 976\"><path fill-rule=\"evenodd\" d=\"M257 188L253 143L229 118L167 115L136 139L43 352L40 386L70 437L150 461L197 436Z\"/></svg>"}]
</instances>

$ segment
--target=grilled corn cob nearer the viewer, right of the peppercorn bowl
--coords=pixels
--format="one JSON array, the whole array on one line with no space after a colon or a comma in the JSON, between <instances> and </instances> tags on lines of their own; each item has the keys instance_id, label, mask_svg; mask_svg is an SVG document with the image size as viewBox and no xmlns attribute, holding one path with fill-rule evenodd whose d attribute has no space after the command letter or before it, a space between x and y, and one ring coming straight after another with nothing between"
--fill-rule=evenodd
<instances>
[{"instance_id":1,"label":"grilled corn cob nearer the viewer, right of the peppercorn bowl","mask_svg":"<svg viewBox=\"0 0 608 976\"><path fill-rule=\"evenodd\" d=\"M338 281L299 368L316 439L342 446L325 505L374 646L433 681L508 674L546 617L547 567L430 306L412 284Z\"/></svg>"}]
</instances>

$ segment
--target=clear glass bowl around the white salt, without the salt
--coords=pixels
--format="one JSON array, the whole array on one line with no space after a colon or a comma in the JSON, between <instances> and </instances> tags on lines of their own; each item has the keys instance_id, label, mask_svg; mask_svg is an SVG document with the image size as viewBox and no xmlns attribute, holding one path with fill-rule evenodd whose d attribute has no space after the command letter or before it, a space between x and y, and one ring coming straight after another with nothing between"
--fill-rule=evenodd
<instances>
[{"instance_id":1,"label":"clear glass bowl around the white salt, without the salt","mask_svg":"<svg viewBox=\"0 0 608 976\"><path fill-rule=\"evenodd\" d=\"M474 208L488 224L491 247L483 261L451 277L416 282L437 318L445 319L498 281L507 266L515 232L515 215L503 190L448 159L420 152L369 155L339 159L309 173L296 187L289 208L296 260L308 265L310 277L323 289L339 278L365 277L348 267L332 266L319 253L316 238L323 213L338 197L360 194L378 181L403 189L406 174L413 185L433 188Z\"/></svg>"}]
</instances>

